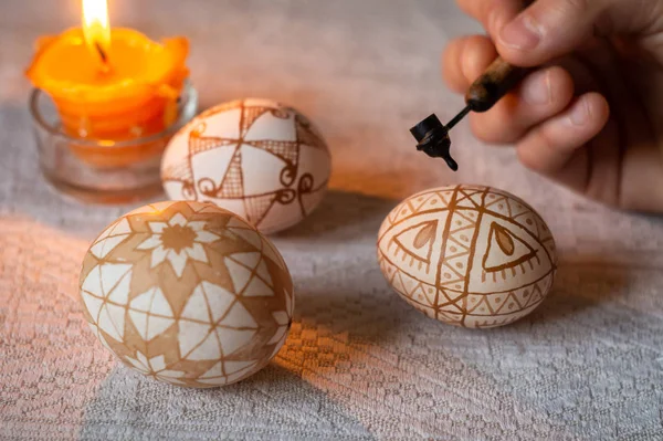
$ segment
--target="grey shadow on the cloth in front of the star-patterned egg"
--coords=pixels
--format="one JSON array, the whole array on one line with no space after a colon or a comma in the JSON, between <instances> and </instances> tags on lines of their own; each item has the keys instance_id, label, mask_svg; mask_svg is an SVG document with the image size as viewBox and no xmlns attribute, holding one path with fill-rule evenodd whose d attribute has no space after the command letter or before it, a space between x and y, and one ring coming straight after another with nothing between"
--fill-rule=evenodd
<instances>
[{"instance_id":1,"label":"grey shadow on the cloth in front of the star-patterned egg","mask_svg":"<svg viewBox=\"0 0 663 441\"><path fill-rule=\"evenodd\" d=\"M116 367L86 405L86 439L373 437L325 391L274 363L223 388L166 385Z\"/></svg>"}]
</instances>

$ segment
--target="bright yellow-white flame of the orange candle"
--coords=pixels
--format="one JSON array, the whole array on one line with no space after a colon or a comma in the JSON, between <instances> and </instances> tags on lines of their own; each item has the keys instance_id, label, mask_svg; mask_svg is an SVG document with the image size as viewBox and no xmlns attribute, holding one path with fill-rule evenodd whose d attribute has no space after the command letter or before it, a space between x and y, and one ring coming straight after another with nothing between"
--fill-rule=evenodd
<instances>
[{"instance_id":1,"label":"bright yellow-white flame of the orange candle","mask_svg":"<svg viewBox=\"0 0 663 441\"><path fill-rule=\"evenodd\" d=\"M90 51L107 71L110 50L107 0L83 0L83 35Z\"/></svg>"}]
</instances>

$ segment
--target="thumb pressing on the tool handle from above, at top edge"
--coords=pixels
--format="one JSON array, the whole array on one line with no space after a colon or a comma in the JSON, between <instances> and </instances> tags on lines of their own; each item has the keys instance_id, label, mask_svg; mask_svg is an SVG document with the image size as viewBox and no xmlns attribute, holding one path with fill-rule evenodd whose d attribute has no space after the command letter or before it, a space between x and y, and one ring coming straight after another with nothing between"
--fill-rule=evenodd
<instances>
[{"instance_id":1,"label":"thumb pressing on the tool handle from above, at top edge","mask_svg":"<svg viewBox=\"0 0 663 441\"><path fill-rule=\"evenodd\" d=\"M502 28L496 44L506 61L535 66L592 36L655 32L662 14L660 0L537 0Z\"/></svg>"}]
</instances>

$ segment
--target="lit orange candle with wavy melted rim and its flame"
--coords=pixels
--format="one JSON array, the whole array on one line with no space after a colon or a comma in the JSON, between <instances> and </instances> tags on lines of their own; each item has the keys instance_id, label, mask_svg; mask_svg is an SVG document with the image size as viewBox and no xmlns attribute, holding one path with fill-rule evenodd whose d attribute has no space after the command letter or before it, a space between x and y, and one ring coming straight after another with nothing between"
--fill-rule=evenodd
<instances>
[{"instance_id":1,"label":"lit orange candle with wavy melted rim and its flame","mask_svg":"<svg viewBox=\"0 0 663 441\"><path fill-rule=\"evenodd\" d=\"M52 97L67 135L129 140L176 119L188 52L185 38L159 44L135 30L110 30L106 0L83 0L82 29L41 38L27 75ZM120 166L149 153L77 154L97 166Z\"/></svg>"}]
</instances>

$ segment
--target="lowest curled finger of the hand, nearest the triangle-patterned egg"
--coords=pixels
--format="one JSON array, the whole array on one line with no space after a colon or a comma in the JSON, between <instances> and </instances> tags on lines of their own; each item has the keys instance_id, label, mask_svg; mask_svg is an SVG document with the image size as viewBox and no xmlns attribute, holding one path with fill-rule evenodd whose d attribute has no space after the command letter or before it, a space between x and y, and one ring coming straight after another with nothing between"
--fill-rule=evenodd
<instances>
[{"instance_id":1,"label":"lowest curled finger of the hand, nearest the triangle-patterned egg","mask_svg":"<svg viewBox=\"0 0 663 441\"><path fill-rule=\"evenodd\" d=\"M602 95L581 95L565 112L532 129L518 143L518 158L526 167L555 177L579 147L601 132L608 116Z\"/></svg>"}]
</instances>

